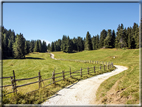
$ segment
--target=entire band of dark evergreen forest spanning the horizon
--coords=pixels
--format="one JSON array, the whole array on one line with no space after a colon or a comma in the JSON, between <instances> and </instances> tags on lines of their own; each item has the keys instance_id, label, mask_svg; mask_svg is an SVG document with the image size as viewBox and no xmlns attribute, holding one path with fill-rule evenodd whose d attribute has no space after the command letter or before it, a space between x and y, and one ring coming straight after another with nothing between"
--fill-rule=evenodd
<instances>
[{"instance_id":1,"label":"entire band of dark evergreen forest spanning the horizon","mask_svg":"<svg viewBox=\"0 0 142 107\"><path fill-rule=\"evenodd\" d=\"M11 29L1 27L2 58L25 58L26 54L32 52L63 51L66 53L79 52L83 50L97 50L100 48L139 48L139 29L140 26L134 23L133 27L124 28L119 24L117 32L114 30L103 29L100 35L91 37L89 31L86 37L70 38L63 35L51 44L46 44L41 40L26 40L23 34L15 34Z\"/></svg>"}]
</instances>

